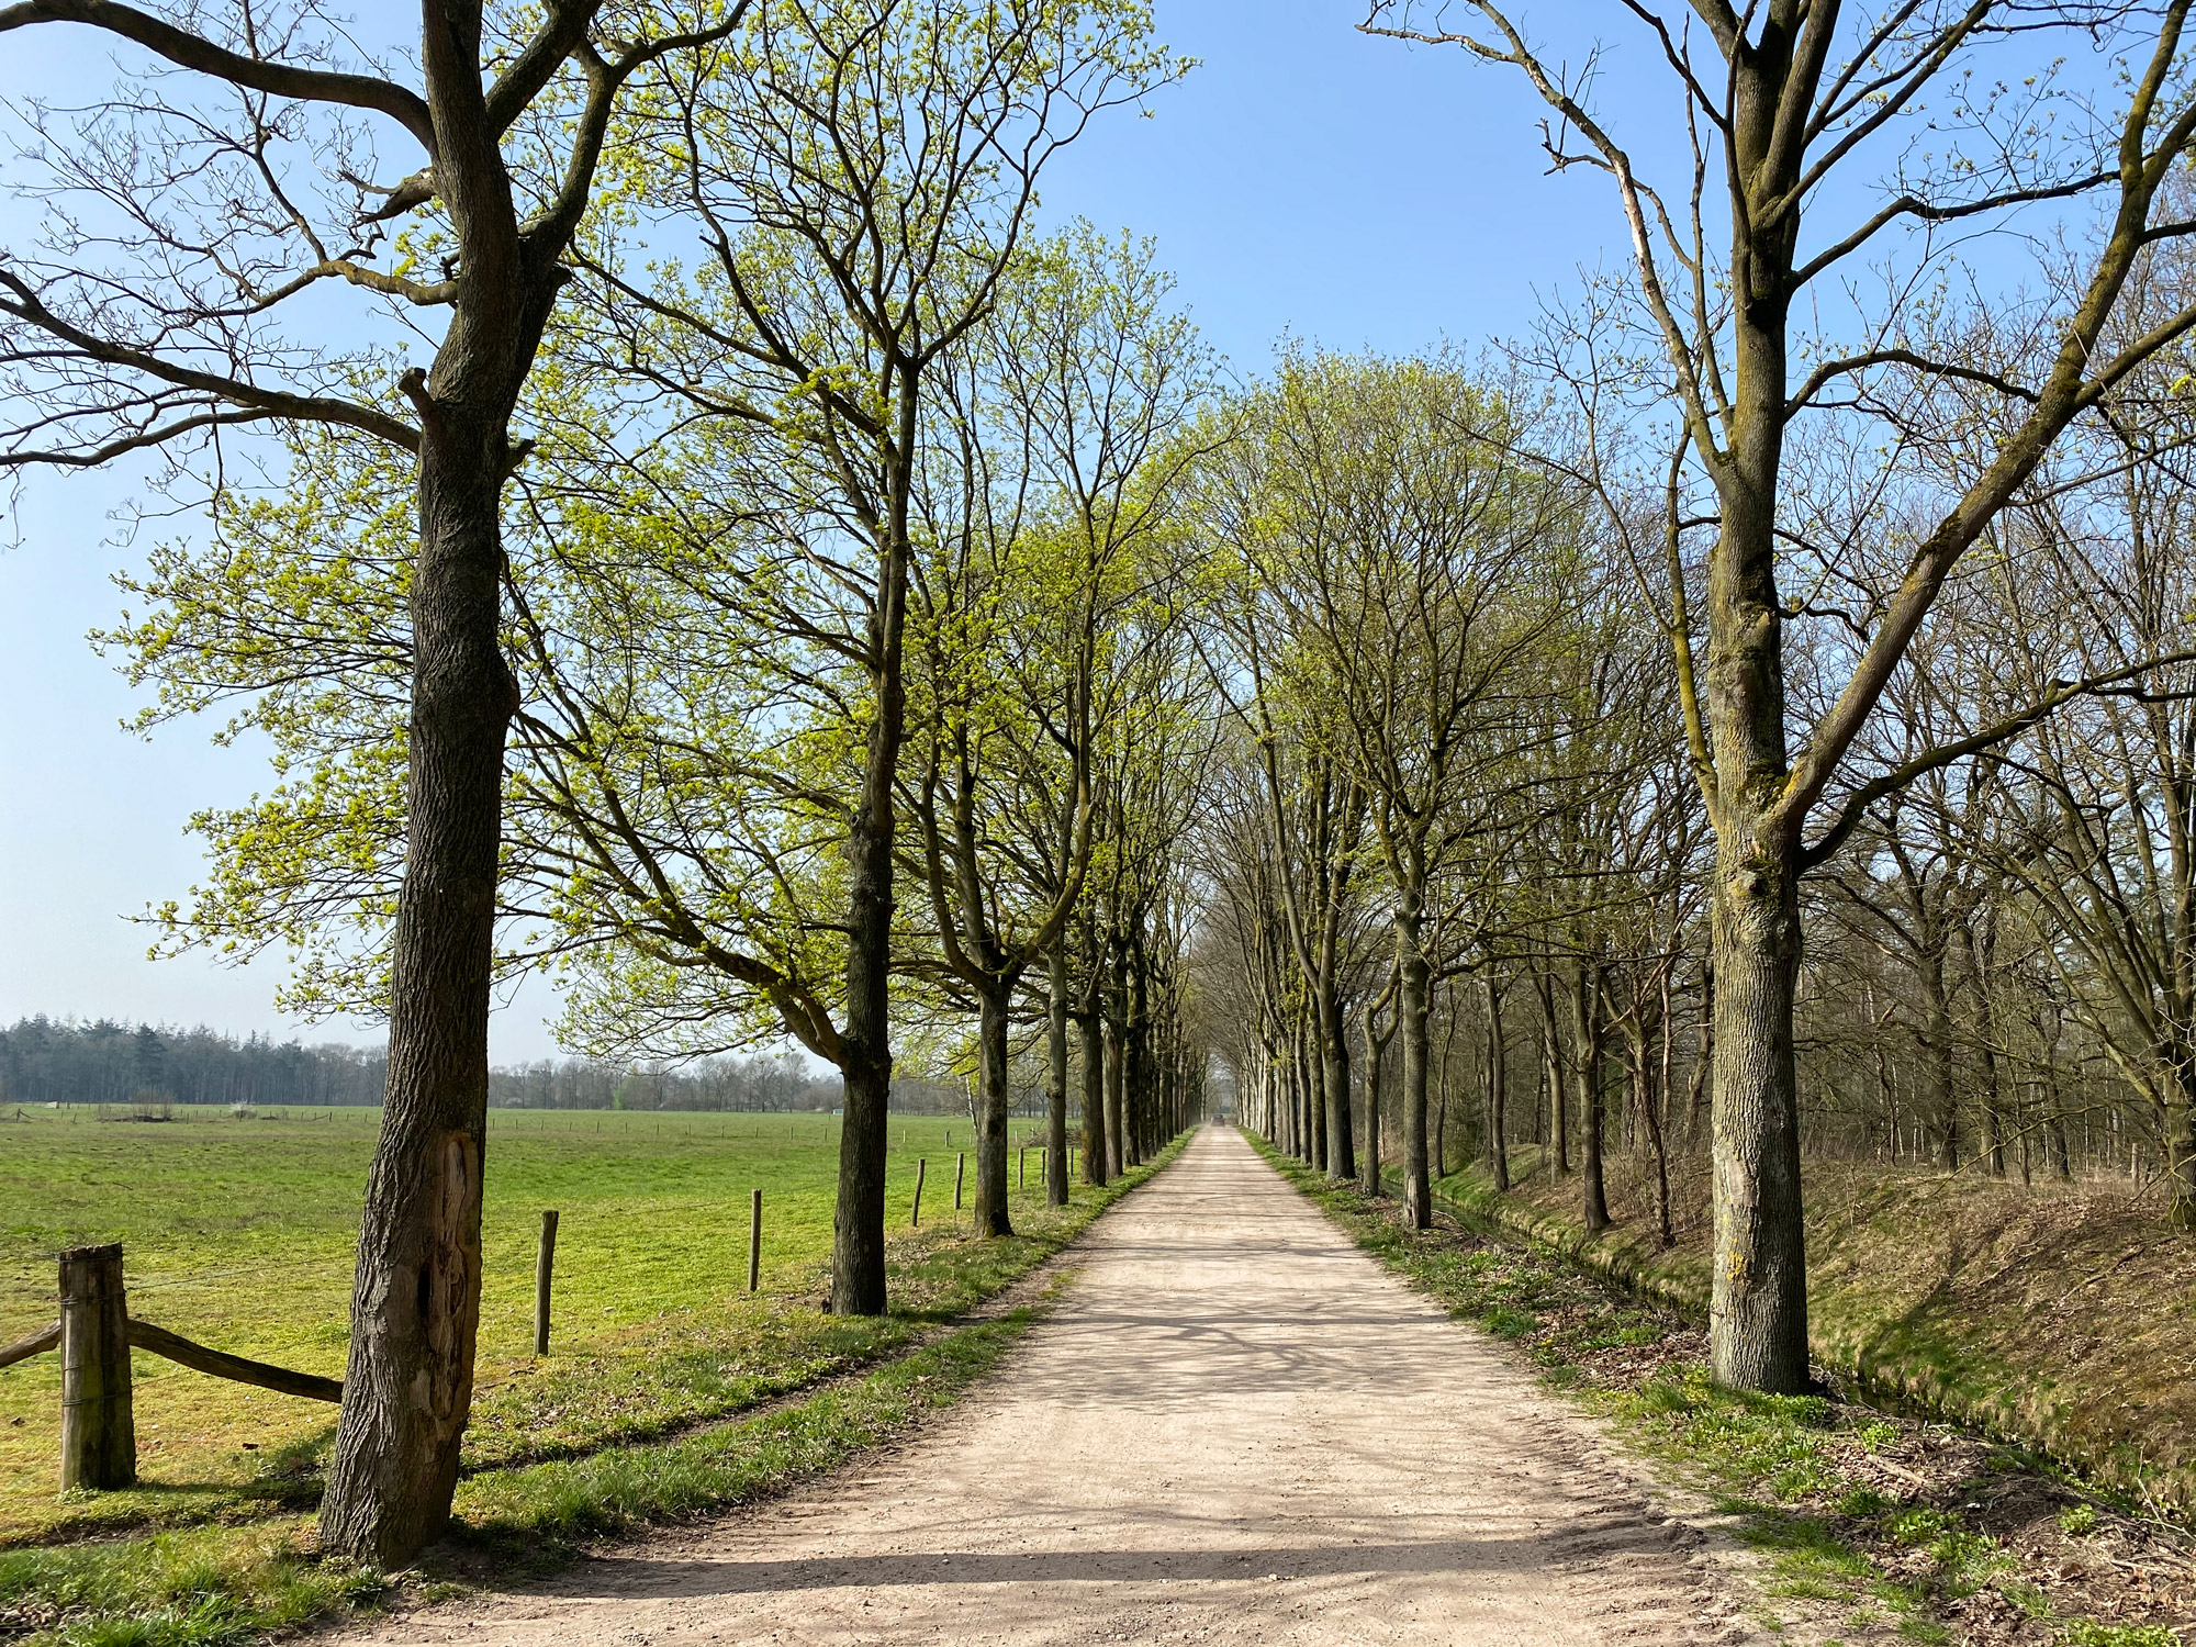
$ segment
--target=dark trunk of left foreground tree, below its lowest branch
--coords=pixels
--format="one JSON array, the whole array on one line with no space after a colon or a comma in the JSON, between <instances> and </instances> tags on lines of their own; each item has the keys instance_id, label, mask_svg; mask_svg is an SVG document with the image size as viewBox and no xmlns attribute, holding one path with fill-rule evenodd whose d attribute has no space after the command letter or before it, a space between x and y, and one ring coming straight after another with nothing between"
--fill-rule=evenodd
<instances>
[{"instance_id":1,"label":"dark trunk of left foreground tree, below its lowest branch","mask_svg":"<svg viewBox=\"0 0 2196 1647\"><path fill-rule=\"evenodd\" d=\"M382 1568L408 1564L450 1520L481 1320L488 984L503 738L518 692L498 646L505 415L468 415L457 400L468 365L481 362L437 360L439 415L424 419L419 446L389 1076L321 1500L321 1542Z\"/></svg>"}]
</instances>

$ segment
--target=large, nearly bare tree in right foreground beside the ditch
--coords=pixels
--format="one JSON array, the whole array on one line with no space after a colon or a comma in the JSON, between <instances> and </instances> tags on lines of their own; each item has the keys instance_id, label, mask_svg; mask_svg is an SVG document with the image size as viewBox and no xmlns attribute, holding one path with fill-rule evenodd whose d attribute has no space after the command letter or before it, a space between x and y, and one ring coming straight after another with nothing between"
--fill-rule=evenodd
<instances>
[{"instance_id":1,"label":"large, nearly bare tree in right foreground beside the ditch","mask_svg":"<svg viewBox=\"0 0 2196 1647\"><path fill-rule=\"evenodd\" d=\"M1801 876L1845 839L1875 799L1869 780L1842 799L1816 839L1810 824L1840 782L1884 687L1924 628L1959 558L1983 536L2053 441L2095 408L2154 349L2196 325L2181 310L2106 347L2108 323L2145 246L2192 224L2161 189L2196 136L2196 94L2183 53L2187 4L2044 7L2018 0L1897 4L1864 13L1836 0L1728 0L1691 7L1704 44L1667 9L1612 7L1640 24L1678 88L1689 176L1680 204L1658 191L1594 108L1592 68L1566 72L1535 46L1511 7L1471 0L1478 31L1419 26L1410 0L1375 0L1364 29L1452 44L1524 75L1555 119L1555 167L1605 173L1634 255L1647 345L1673 400L1689 455L1713 494L1715 542L1706 575L1706 670L1693 670L1687 624L1662 621L1680 663L1693 769L1715 830L1715 1269L1711 1364L1724 1383L1794 1392L1807 1386L1807 1293L1799 1184L1799 1091L1792 1050L1801 953ZM2038 35L2106 31L2126 59L2126 103L2115 121L2042 125L2058 90ZM1970 70L1987 48L2009 53L2003 90L1954 97L1950 134L1932 136L1858 222L1827 233L1814 220L1849 198L1878 143L1913 130L1924 99ZM1592 61L1592 59L1588 59ZM2115 59L2117 61L2117 59ZM2036 75L2029 70L2036 68ZM1983 75L1983 83L1990 83ZM2023 132L2018 141L2001 141ZM1974 138L1963 143L1963 138ZM1572 147L1577 145L1577 147ZM2003 222L2038 202L2099 202L2106 217L2084 264L2058 283L2055 345L2033 380L2003 378L1930 354L1900 292L1915 268L1889 277L1893 299L1862 314L1862 347L1820 347L1792 382L1796 316L1823 277L1862 250L1884 253L1886 231L1915 226L1926 270L1943 246L1937 224ZM1722 239L1717 239L1722 237ZM1856 290L1856 288L1847 288ZM1794 538L1794 424L1845 389L1838 406L1867 411L1867 386L1893 369L1979 382L2009 406L2003 437L1974 452L1904 536L1904 575L1880 608L1853 615L1851 646L1823 659L1842 685L1792 747L1785 624L1803 615L1785 589ZM1684 523L1673 518L1673 529ZM1807 553L1805 549L1801 553ZM1829 558L1836 571L1836 556ZM1924 758L1924 762L1937 755ZM1952 755L1943 755L1950 760ZM1878 791L1880 793L1880 791Z\"/></svg>"}]
</instances>

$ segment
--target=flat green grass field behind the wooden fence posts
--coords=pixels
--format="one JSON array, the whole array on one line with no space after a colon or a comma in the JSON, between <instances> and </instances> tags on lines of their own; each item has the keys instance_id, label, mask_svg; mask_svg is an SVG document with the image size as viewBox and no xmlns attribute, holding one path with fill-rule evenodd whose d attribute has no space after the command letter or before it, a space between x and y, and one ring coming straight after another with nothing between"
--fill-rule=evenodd
<instances>
[{"instance_id":1,"label":"flat green grass field behind the wooden fence posts","mask_svg":"<svg viewBox=\"0 0 2196 1647\"><path fill-rule=\"evenodd\" d=\"M134 1315L340 1377L380 1113L173 1113L158 1124L90 1111L0 1122L0 1342L55 1318L61 1247L121 1241ZM824 1315L837 1129L828 1116L494 1111L468 1471L650 1443L742 1412L905 1346L1030 1263L1023 1243L955 1239L968 1221L953 1212L968 1122L894 1118L892 1315ZM1015 1124L1015 1144L1023 1138L1037 1142L1034 1122ZM922 1228L911 1232L918 1155L929 1159L929 1184ZM1043 1208L1039 1170L1032 1149L1017 1223L1043 1241L1058 1214ZM971 1203L973 1179L971 1162ZM755 1188L762 1291L749 1298ZM536 1362L542 1208L562 1223L553 1353ZM59 1357L0 1370L0 1546L296 1511L316 1498L334 1408L143 1351L134 1377L143 1489L64 1502Z\"/></svg>"}]
</instances>

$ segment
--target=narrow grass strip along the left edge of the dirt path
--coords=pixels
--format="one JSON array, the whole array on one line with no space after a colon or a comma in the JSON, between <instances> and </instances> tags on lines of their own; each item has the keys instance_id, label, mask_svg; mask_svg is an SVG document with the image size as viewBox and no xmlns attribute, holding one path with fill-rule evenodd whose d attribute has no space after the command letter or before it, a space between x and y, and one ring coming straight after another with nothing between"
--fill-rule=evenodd
<instances>
[{"instance_id":1,"label":"narrow grass strip along the left edge of the dirt path","mask_svg":"<svg viewBox=\"0 0 2196 1647\"><path fill-rule=\"evenodd\" d=\"M1056 1274L1065 1265L1050 1285L1039 1271L1184 1144L1186 1135L1096 1190L1043 1241L1017 1243L1019 1263L988 1267L995 1285L971 1307L975 1320L929 1329L911 1348L903 1340L900 1353L861 1375L834 1368L802 1392L670 1438L470 1474L459 1482L448 1539L411 1572L386 1577L323 1557L312 1517L296 1511L0 1550L0 1643L237 1647L389 1603L400 1590L435 1599L459 1579L551 1572L591 1539L784 1493L903 1438L997 1368L1065 1282ZM1004 1296L1017 1285L1043 1293L1008 1307Z\"/></svg>"}]
</instances>

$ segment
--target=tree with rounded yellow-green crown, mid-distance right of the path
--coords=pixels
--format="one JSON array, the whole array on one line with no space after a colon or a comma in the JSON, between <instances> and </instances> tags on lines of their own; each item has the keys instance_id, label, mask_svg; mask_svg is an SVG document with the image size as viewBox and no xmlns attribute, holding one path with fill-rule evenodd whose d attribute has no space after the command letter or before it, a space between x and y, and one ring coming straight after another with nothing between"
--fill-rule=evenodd
<instances>
[{"instance_id":1,"label":"tree with rounded yellow-green crown, mid-distance right of the path","mask_svg":"<svg viewBox=\"0 0 2196 1647\"><path fill-rule=\"evenodd\" d=\"M1579 505L1511 459L1515 413L1449 360L1289 356L1236 417L1221 529L1258 584L1289 722L1362 797L1388 878L1403 1206L1423 1230L1427 1021L1445 960L1430 953L1427 900L1506 824L1498 769L1537 718L1520 665L1555 624ZM1331 990L1331 968L1320 977ZM1324 995L1320 1012L1326 1037ZM1346 1111L1346 1078L1329 1085L1331 1116ZM1346 1127L1333 1135L1329 1173L1348 1177Z\"/></svg>"}]
</instances>

